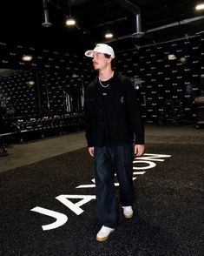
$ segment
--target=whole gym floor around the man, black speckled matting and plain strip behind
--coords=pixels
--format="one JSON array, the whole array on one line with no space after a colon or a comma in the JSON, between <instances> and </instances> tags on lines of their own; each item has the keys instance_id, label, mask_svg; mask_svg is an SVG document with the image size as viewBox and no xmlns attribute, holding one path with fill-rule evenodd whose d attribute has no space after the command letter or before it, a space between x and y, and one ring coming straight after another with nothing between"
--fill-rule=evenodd
<instances>
[{"instance_id":1,"label":"whole gym floor around the man, black speckled matting and plain strip behind","mask_svg":"<svg viewBox=\"0 0 204 256\"><path fill-rule=\"evenodd\" d=\"M203 255L203 129L146 125L146 156L134 165L155 165L135 172L135 216L124 219L117 204L119 225L104 243L95 240L95 200L83 202L82 214L72 208L95 196L93 158L84 146L84 132L9 146L0 158L1 170L9 170L0 173L0 255ZM161 159L147 161L149 154ZM117 186L115 192L119 203ZM56 217L44 211L63 214L66 223L51 228Z\"/></svg>"}]
</instances>

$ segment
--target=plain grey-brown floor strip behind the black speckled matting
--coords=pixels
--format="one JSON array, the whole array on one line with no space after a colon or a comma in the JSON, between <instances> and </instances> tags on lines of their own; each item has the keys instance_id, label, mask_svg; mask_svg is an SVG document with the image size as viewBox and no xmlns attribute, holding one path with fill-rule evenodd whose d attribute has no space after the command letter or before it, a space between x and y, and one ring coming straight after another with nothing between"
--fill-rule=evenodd
<instances>
[{"instance_id":1,"label":"plain grey-brown floor strip behind the black speckled matting","mask_svg":"<svg viewBox=\"0 0 204 256\"><path fill-rule=\"evenodd\" d=\"M146 144L148 143L192 143L199 141L204 145L204 129L196 129L194 125L145 125ZM159 139L158 139L159 138ZM66 152L72 152L86 146L84 131L59 135L51 138L30 141L8 146L8 154L1 154L0 172L16 167L30 165L46 158L52 158Z\"/></svg>"}]
</instances>

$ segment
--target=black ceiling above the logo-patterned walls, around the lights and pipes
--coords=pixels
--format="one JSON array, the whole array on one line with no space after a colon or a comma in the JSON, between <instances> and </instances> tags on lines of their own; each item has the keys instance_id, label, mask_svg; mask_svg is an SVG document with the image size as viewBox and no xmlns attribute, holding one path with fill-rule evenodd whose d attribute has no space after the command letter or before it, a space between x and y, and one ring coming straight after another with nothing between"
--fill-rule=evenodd
<instances>
[{"instance_id":1,"label":"black ceiling above the logo-patterned walls, around the lights and pipes","mask_svg":"<svg viewBox=\"0 0 204 256\"><path fill-rule=\"evenodd\" d=\"M202 33L204 11L194 10L194 0L48 0L50 27L43 27L44 0L3 0L0 3L0 42L30 43L43 47L86 50L115 37L118 51L157 44ZM142 37L132 37L141 13ZM76 26L65 26L71 14Z\"/></svg>"}]
</instances>

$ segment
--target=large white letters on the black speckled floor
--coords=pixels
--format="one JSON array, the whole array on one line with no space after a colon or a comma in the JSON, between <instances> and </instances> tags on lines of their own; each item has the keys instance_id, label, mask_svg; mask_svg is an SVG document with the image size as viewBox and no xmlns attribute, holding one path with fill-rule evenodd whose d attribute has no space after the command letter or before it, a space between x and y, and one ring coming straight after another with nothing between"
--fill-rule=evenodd
<instances>
[{"instance_id":1,"label":"large white letters on the black speckled floor","mask_svg":"<svg viewBox=\"0 0 204 256\"><path fill-rule=\"evenodd\" d=\"M135 161L133 161L134 164L134 172L133 172L133 180L136 179L137 175L143 175L146 171L152 169L156 166L155 162L163 162L164 159L162 158L170 158L171 155L161 155L161 154L144 154L143 157L136 158ZM137 166L139 164L139 166ZM142 166L141 166L142 165ZM92 188L95 187L95 179L91 179L91 184L86 185L78 185L76 186L76 189L80 188ZM115 183L115 186L118 186L119 183ZM95 195L59 195L56 197L58 201L60 201L63 205L67 206L70 211L75 212L76 215L82 214L84 212L81 208L82 205L85 205L89 203L92 199L95 199ZM77 203L73 203L69 199L80 199ZM43 215L47 215L49 217L52 217L54 222L43 225L43 231L55 229L59 226L63 226L67 221L68 217L64 213L56 212L53 210L49 210L40 206L36 206L32 208L30 211L32 212L38 212Z\"/></svg>"}]
</instances>

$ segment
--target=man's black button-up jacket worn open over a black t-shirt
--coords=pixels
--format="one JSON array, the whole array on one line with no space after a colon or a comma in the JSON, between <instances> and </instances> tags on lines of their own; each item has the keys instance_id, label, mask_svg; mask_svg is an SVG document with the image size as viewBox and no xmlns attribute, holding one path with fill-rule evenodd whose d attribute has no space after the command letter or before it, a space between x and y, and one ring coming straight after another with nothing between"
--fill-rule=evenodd
<instances>
[{"instance_id":1,"label":"man's black button-up jacket worn open over a black t-shirt","mask_svg":"<svg viewBox=\"0 0 204 256\"><path fill-rule=\"evenodd\" d=\"M98 86L101 85L95 78L85 91L84 115L89 146L102 146L104 143L104 111ZM144 129L133 84L128 77L115 72L110 86L112 90L107 96L109 111L106 112L106 118L111 145L128 145L133 142L143 145Z\"/></svg>"}]
</instances>

